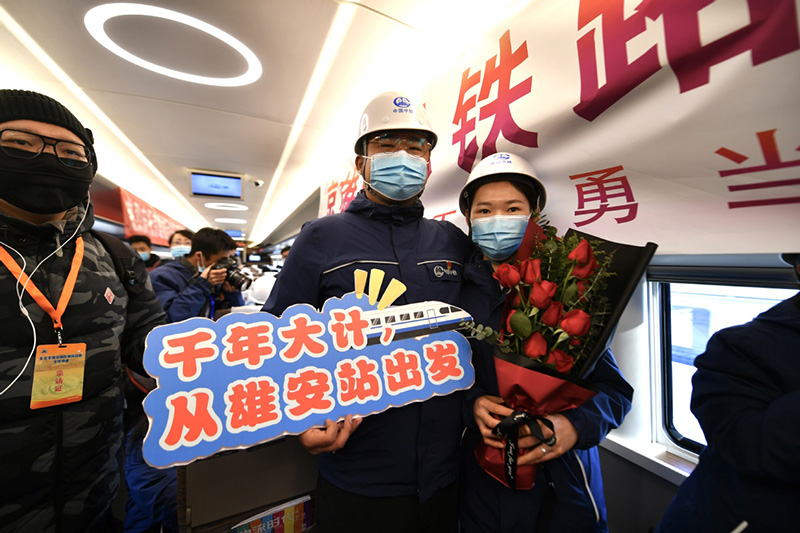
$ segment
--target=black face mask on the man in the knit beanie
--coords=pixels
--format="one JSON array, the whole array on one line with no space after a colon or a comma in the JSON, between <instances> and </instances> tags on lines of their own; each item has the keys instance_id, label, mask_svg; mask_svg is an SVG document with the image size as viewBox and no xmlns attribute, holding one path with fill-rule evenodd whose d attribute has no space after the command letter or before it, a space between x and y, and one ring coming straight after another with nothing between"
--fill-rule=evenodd
<instances>
[{"instance_id":1,"label":"black face mask on the man in the knit beanie","mask_svg":"<svg viewBox=\"0 0 800 533\"><path fill-rule=\"evenodd\" d=\"M91 165L76 169L52 154L18 159L0 150L0 198L31 213L49 215L86 198L94 177Z\"/></svg>"}]
</instances>

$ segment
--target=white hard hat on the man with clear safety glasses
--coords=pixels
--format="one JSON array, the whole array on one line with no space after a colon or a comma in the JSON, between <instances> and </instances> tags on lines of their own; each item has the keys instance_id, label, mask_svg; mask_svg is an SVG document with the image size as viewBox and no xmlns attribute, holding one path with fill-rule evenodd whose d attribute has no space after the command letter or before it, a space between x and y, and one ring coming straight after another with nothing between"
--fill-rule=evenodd
<instances>
[{"instance_id":1,"label":"white hard hat on the man with clear safety glasses","mask_svg":"<svg viewBox=\"0 0 800 533\"><path fill-rule=\"evenodd\" d=\"M425 105L414 102L401 92L390 91L373 98L364 109L358 123L356 153L364 155L365 137L389 130L423 131L430 137L431 148L436 146L436 134L431 129Z\"/></svg>"}]
</instances>

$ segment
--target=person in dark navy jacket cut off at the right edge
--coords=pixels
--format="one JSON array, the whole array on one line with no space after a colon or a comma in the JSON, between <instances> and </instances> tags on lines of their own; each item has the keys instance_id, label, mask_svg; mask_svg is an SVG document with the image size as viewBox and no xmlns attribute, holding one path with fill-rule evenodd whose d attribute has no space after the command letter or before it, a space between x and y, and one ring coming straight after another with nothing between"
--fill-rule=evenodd
<instances>
[{"instance_id":1,"label":"person in dark navy jacket cut off at the right edge","mask_svg":"<svg viewBox=\"0 0 800 533\"><path fill-rule=\"evenodd\" d=\"M800 254L784 254L800 285ZM800 293L715 333L697 356L691 409L708 445L656 533L800 526Z\"/></svg>"}]
</instances>

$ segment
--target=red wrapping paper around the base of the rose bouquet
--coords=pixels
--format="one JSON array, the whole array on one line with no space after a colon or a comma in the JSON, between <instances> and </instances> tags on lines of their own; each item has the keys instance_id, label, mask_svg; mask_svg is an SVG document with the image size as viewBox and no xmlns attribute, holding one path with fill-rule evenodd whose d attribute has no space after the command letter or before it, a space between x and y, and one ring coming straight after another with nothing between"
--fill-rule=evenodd
<instances>
[{"instance_id":1,"label":"red wrapping paper around the base of the rose bouquet","mask_svg":"<svg viewBox=\"0 0 800 533\"><path fill-rule=\"evenodd\" d=\"M577 378L559 374L555 370L524 355L495 350L495 370L500 396L515 411L525 411L534 416L560 413L579 407L596 394L591 385ZM557 437L557 436L556 436ZM519 450L524 453L525 450ZM483 441L475 448L478 464L497 481L511 487L505 450L486 446ZM518 490L533 488L536 465L513 465L516 469L514 485Z\"/></svg>"}]
</instances>

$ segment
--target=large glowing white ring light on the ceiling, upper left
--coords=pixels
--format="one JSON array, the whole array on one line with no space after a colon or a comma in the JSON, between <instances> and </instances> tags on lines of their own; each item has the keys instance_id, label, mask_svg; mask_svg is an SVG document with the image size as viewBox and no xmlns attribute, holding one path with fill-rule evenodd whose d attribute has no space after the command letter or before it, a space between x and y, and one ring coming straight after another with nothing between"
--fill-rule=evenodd
<instances>
[{"instance_id":1,"label":"large glowing white ring light on the ceiling, upper left","mask_svg":"<svg viewBox=\"0 0 800 533\"><path fill-rule=\"evenodd\" d=\"M191 26L192 28L205 32L212 37L216 37L244 57L245 61L247 61L247 72L232 78L212 78L162 67L161 65L156 65L155 63L151 63L150 61L146 61L138 56L135 56L112 41L111 38L106 34L104 27L106 21L109 19L127 15L143 15L146 17L157 17L166 20L172 20L180 24ZM161 7L147 6L144 4L103 4L90 9L86 13L83 23L86 25L86 29L89 31L89 34L94 37L98 43L103 45L112 53L118 55L126 61L130 61L134 65L138 65L142 68L162 74L164 76L169 76L170 78L188 81L191 83L199 83L202 85L240 87L242 85L253 83L261 77L261 62L249 48L242 44L241 41L220 30L219 28L212 26L211 24L203 22L202 20L194 17L190 17L189 15L178 13L177 11L172 11Z\"/></svg>"}]
</instances>

